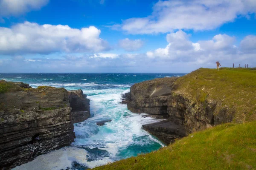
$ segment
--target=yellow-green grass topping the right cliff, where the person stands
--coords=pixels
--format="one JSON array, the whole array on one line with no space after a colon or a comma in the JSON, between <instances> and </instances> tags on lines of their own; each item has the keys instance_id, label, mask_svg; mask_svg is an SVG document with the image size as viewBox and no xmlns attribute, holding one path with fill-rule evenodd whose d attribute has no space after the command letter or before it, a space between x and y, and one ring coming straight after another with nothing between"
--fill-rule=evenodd
<instances>
[{"instance_id":1,"label":"yellow-green grass topping the right cliff, where the person stands","mask_svg":"<svg viewBox=\"0 0 256 170\"><path fill-rule=\"evenodd\" d=\"M200 68L175 82L177 91L199 104L215 100L236 111L236 122L256 120L256 70Z\"/></svg>"}]
</instances>

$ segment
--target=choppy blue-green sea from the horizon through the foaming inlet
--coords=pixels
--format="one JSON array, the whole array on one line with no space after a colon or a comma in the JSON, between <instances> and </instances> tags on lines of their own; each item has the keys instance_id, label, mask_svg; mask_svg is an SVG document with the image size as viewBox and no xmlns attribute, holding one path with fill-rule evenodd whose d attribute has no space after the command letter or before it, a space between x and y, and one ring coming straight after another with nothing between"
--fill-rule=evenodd
<instances>
[{"instance_id":1,"label":"choppy blue-green sea from the horizon through the foaming inlet","mask_svg":"<svg viewBox=\"0 0 256 170\"><path fill-rule=\"evenodd\" d=\"M76 139L70 147L38 156L33 161L15 167L16 170L84 170L120 159L148 153L163 147L160 141L141 127L159 120L128 111L121 94L131 85L149 79L180 77L185 74L0 74L0 79L24 82L37 88L41 85L82 89L90 99L91 117L76 123ZM112 120L104 126L101 120Z\"/></svg>"}]
</instances>

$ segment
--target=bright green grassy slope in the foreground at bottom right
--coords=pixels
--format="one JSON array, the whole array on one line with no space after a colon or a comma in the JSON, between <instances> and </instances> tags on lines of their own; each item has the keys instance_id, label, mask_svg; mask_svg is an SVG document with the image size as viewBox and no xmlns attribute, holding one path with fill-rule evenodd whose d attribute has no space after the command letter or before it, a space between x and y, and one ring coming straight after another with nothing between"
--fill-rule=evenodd
<instances>
[{"instance_id":1,"label":"bright green grassy slope in the foreground at bottom right","mask_svg":"<svg viewBox=\"0 0 256 170\"><path fill-rule=\"evenodd\" d=\"M222 124L95 170L253 170L256 122Z\"/></svg>"}]
</instances>

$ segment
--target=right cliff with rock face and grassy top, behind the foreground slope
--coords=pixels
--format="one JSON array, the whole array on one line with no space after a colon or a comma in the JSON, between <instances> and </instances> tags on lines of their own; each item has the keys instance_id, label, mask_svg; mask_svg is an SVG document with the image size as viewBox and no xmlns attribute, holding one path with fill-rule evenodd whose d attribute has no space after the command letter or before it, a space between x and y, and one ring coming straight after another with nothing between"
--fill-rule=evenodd
<instances>
[{"instance_id":1,"label":"right cliff with rock face and grassy top, behind the foreground slope","mask_svg":"<svg viewBox=\"0 0 256 170\"><path fill-rule=\"evenodd\" d=\"M153 79L131 87L134 113L169 117L143 128L166 143L221 123L256 120L256 71L200 68L184 77Z\"/></svg>"}]
</instances>

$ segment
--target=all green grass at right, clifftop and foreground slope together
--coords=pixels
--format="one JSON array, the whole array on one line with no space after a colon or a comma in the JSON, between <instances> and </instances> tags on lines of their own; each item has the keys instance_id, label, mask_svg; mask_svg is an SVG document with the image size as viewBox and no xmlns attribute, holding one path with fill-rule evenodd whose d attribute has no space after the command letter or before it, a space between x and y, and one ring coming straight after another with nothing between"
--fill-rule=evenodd
<instances>
[{"instance_id":1,"label":"all green grass at right, clifftop and foreground slope together","mask_svg":"<svg viewBox=\"0 0 256 170\"><path fill-rule=\"evenodd\" d=\"M155 152L95 169L255 170L256 69L221 68L217 72L200 68L177 79L175 86L177 93L199 105L215 100L230 113L235 111L234 123L195 132Z\"/></svg>"}]
</instances>

